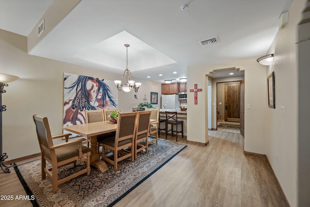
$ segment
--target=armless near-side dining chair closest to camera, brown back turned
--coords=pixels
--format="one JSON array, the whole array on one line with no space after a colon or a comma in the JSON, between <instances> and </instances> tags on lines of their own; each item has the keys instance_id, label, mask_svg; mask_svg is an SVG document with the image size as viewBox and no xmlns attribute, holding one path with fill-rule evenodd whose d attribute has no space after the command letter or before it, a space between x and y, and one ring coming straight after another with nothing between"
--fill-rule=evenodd
<instances>
[{"instance_id":1,"label":"armless near-side dining chair closest to camera, brown back turned","mask_svg":"<svg viewBox=\"0 0 310 207\"><path fill-rule=\"evenodd\" d=\"M115 137L103 140L103 152L109 149L112 152L102 155L102 159L113 164L114 170L117 170L118 162L131 158L134 160L134 139L136 131L137 112L119 113L116 126ZM130 150L128 150L130 148Z\"/></svg>"}]
</instances>

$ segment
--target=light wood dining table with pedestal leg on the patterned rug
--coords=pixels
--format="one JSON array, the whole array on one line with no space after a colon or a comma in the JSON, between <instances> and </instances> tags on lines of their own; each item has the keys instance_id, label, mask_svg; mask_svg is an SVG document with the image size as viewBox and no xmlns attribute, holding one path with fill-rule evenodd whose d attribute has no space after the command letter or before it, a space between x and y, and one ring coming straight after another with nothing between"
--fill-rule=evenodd
<instances>
[{"instance_id":1,"label":"light wood dining table with pedestal leg on the patterned rug","mask_svg":"<svg viewBox=\"0 0 310 207\"><path fill-rule=\"evenodd\" d=\"M156 122L157 120L155 119L150 120L150 123L155 124ZM102 121L87 124L63 126L62 129L87 137L87 139L89 139L91 143L91 165L97 168L100 172L105 172L109 168L106 162L100 159L100 155L97 152L97 135L116 131L116 127L117 124L115 122Z\"/></svg>"}]
</instances>

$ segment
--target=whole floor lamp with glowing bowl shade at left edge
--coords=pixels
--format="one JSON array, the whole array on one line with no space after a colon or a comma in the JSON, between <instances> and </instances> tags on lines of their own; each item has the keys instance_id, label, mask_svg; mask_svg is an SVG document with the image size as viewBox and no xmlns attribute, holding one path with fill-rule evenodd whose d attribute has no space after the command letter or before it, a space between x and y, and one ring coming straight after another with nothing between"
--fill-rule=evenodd
<instances>
[{"instance_id":1,"label":"whole floor lamp with glowing bowl shade at left edge","mask_svg":"<svg viewBox=\"0 0 310 207\"><path fill-rule=\"evenodd\" d=\"M2 152L2 111L6 111L6 106L2 105L2 94L5 93L4 86L8 86L7 82L12 82L19 79L17 76L0 74L0 166L4 173L10 173L10 167L16 165L15 162L10 163L9 166L3 164L4 160L8 158L6 153Z\"/></svg>"}]
</instances>

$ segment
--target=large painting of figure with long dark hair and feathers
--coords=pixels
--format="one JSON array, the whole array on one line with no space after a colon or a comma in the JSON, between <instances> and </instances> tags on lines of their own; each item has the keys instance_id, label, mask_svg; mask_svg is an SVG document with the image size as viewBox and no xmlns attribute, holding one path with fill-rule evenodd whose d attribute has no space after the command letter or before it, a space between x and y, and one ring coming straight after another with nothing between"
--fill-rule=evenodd
<instances>
[{"instance_id":1,"label":"large painting of figure with long dark hair and feathers","mask_svg":"<svg viewBox=\"0 0 310 207\"><path fill-rule=\"evenodd\" d=\"M117 108L112 80L64 73L63 82L63 126L84 124L85 110Z\"/></svg>"}]
</instances>

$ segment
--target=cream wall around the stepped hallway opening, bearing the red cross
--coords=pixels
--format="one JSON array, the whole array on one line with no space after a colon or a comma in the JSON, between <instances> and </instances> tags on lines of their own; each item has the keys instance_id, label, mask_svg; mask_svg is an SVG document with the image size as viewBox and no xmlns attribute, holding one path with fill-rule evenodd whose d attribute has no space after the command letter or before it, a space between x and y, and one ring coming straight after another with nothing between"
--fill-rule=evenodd
<instances>
[{"instance_id":1,"label":"cream wall around the stepped hallway opening, bearing the red cross","mask_svg":"<svg viewBox=\"0 0 310 207\"><path fill-rule=\"evenodd\" d=\"M206 91L207 81L205 81L204 76L216 69L236 67L245 70L245 105L251 104L251 110L245 111L245 151L266 154L264 130L268 107L266 72L265 67L257 63L257 58L250 57L188 68L187 88L188 90L192 89L194 84L198 83L198 88ZM198 92L198 105L194 105L193 93L189 92L187 96L187 139L206 143L208 141L206 130L198 129L207 129L208 127L207 119L201 115L206 114L206 117L208 117L207 101L205 100L207 93ZM216 93L213 93L212 103L216 103L214 96L216 96ZM216 107L213 107L212 115L214 117L216 117L216 112Z\"/></svg>"}]
</instances>

